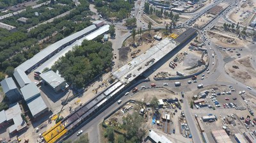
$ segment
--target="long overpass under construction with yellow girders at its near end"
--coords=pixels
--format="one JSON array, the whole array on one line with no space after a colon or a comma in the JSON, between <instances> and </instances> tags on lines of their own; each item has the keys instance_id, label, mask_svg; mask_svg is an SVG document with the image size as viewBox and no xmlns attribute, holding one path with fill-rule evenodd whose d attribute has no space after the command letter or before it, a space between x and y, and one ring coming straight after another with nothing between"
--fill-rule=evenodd
<instances>
[{"instance_id":1,"label":"long overpass under construction with yellow girders at its near end","mask_svg":"<svg viewBox=\"0 0 256 143\"><path fill-rule=\"evenodd\" d=\"M188 33L185 31L185 33L187 33L187 35L184 41L195 35L195 32ZM122 93L125 86L147 71L153 64L160 61L161 58L172 52L181 43L184 43L184 41L177 43L174 40L166 38L148 49L144 54L135 57L131 62L113 72L112 74L116 77L116 81L107 89L99 93L95 98L65 117L62 121L56 124L56 126L53 126L50 130L43 133L42 135L45 142L53 143L65 137L68 131L72 133L72 130L79 126L79 124L88 120L93 114L104 107L104 105L108 104L116 98L118 94ZM127 78L127 75L129 75L129 78Z\"/></svg>"}]
</instances>

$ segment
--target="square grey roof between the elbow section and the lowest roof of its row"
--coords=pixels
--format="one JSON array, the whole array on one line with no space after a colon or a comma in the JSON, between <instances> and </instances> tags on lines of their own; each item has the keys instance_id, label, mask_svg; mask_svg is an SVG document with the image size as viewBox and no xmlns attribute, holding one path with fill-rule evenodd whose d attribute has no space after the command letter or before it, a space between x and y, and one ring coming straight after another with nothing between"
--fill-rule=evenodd
<instances>
[{"instance_id":1,"label":"square grey roof between the elbow section and the lowest roof of its row","mask_svg":"<svg viewBox=\"0 0 256 143\"><path fill-rule=\"evenodd\" d=\"M34 82L31 82L30 84L22 87L20 91L26 102L40 95L40 91Z\"/></svg>"}]
</instances>

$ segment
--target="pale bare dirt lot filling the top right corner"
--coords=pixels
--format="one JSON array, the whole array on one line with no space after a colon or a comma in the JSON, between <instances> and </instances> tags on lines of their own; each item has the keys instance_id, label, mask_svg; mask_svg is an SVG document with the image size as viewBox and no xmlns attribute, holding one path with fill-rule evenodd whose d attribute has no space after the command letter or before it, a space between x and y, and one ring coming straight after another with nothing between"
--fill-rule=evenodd
<instances>
[{"instance_id":1,"label":"pale bare dirt lot filling the top right corner","mask_svg":"<svg viewBox=\"0 0 256 143\"><path fill-rule=\"evenodd\" d=\"M241 7L235 8L229 15L230 20L241 24L242 26L250 25L250 21L256 16L253 9L256 7L255 0L247 0L245 3L241 2Z\"/></svg>"}]
</instances>

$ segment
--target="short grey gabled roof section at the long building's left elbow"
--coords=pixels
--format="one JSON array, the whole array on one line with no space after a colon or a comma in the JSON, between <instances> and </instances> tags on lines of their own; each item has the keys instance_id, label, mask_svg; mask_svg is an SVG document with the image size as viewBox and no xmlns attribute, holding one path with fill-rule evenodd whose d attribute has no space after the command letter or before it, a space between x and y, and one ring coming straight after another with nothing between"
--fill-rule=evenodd
<instances>
[{"instance_id":1,"label":"short grey gabled roof section at the long building's left elbow","mask_svg":"<svg viewBox=\"0 0 256 143\"><path fill-rule=\"evenodd\" d=\"M14 75L15 79L17 80L20 87L23 87L26 84L31 83L31 80L28 79L28 76L26 75L26 73L20 69L15 70L13 75Z\"/></svg>"}]
</instances>

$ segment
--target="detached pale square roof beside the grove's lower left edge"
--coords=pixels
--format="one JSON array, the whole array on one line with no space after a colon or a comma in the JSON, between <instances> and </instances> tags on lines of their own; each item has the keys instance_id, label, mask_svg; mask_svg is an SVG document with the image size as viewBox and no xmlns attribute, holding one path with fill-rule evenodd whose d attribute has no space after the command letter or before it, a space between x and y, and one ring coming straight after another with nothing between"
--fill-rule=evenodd
<instances>
[{"instance_id":1,"label":"detached pale square roof beside the grove's lower left edge","mask_svg":"<svg viewBox=\"0 0 256 143\"><path fill-rule=\"evenodd\" d=\"M54 73L52 70L40 74L40 77L45 80L48 84L50 84L53 88L59 86L61 83L65 82L65 80L60 77L57 73Z\"/></svg>"}]
</instances>

